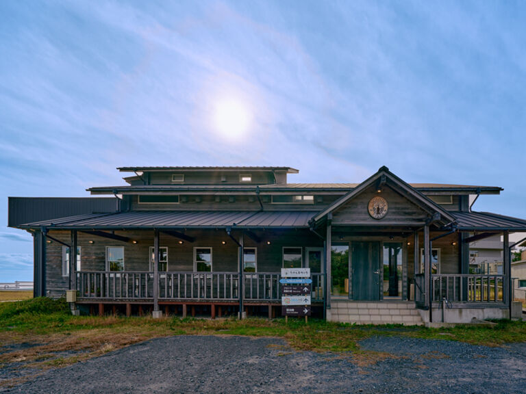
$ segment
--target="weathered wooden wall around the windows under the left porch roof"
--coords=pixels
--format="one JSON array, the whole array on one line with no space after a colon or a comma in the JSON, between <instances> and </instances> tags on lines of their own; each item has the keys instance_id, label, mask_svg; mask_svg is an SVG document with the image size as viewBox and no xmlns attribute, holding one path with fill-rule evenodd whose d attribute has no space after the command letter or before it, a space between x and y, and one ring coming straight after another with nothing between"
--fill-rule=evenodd
<instances>
[{"instance_id":1,"label":"weathered wooden wall around the windows under the left porch roof","mask_svg":"<svg viewBox=\"0 0 526 394\"><path fill-rule=\"evenodd\" d=\"M106 247L123 246L126 271L149 271L149 248L153 246L153 230L151 231L116 231L116 235L123 235L134 239L137 244L125 243L78 233L78 246L81 247L81 270L104 271ZM282 249L286 246L303 248L303 265L305 265L305 248L322 248L323 241L308 230L283 230L283 231L255 231L261 238L257 243L245 235L245 247L258 248L258 272L280 272ZM49 235L71 243L69 231L49 231ZM161 234L159 246L168 247L168 270L193 271L194 248L212 248L212 269L214 272L238 272L238 246L228 237L223 229L187 231L186 235L195 237L193 243L184 241L179 244L179 239ZM234 231L234 237L239 237L240 232ZM89 241L94 241L90 244ZM221 244L225 241L226 244ZM267 241L271 244L268 245ZM51 297L60 297L68 289L68 277L62 277L62 245L52 241L47 244L47 290Z\"/></svg>"}]
</instances>

